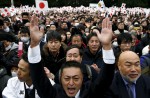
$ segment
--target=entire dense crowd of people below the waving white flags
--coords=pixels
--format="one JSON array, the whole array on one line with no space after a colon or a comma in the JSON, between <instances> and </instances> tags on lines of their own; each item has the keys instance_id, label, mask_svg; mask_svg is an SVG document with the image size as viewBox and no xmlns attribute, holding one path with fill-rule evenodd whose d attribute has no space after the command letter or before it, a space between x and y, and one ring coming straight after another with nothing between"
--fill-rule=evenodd
<instances>
[{"instance_id":1,"label":"entire dense crowd of people below the waving white flags","mask_svg":"<svg viewBox=\"0 0 150 98\"><path fill-rule=\"evenodd\" d=\"M60 9L0 11L0 98L150 98L150 11Z\"/></svg>"}]
</instances>

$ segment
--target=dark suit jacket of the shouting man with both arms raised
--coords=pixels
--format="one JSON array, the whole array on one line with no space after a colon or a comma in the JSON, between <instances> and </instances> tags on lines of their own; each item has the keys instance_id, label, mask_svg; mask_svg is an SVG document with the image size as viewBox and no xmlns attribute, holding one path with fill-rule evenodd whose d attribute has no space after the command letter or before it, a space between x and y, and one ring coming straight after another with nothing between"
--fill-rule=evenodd
<instances>
[{"instance_id":1,"label":"dark suit jacket of the shouting man with both arms raised","mask_svg":"<svg viewBox=\"0 0 150 98\"><path fill-rule=\"evenodd\" d=\"M30 64L30 71L33 85L41 98L69 98L61 85L51 85L41 62ZM114 64L106 64L94 82L83 83L80 98L103 98L112 83L113 76Z\"/></svg>"}]
</instances>

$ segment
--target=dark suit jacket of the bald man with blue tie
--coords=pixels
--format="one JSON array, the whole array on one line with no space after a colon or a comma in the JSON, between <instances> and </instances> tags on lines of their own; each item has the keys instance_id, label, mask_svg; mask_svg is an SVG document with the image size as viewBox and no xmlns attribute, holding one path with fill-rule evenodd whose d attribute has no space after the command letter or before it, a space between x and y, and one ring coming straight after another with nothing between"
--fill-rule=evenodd
<instances>
[{"instance_id":1,"label":"dark suit jacket of the bald man with blue tie","mask_svg":"<svg viewBox=\"0 0 150 98\"><path fill-rule=\"evenodd\" d=\"M150 78L141 75L136 81L136 98L150 98ZM105 98L129 98L125 83L120 75L116 73L110 90Z\"/></svg>"}]
</instances>

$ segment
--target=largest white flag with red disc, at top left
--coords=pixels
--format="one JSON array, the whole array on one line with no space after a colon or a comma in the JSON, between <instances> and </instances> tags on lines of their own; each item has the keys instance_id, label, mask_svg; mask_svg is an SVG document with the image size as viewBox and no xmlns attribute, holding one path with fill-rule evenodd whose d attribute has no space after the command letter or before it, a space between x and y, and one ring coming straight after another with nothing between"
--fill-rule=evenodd
<instances>
[{"instance_id":1,"label":"largest white flag with red disc, at top left","mask_svg":"<svg viewBox=\"0 0 150 98\"><path fill-rule=\"evenodd\" d=\"M48 2L36 0L36 8L40 11L41 10L47 10L48 9Z\"/></svg>"}]
</instances>

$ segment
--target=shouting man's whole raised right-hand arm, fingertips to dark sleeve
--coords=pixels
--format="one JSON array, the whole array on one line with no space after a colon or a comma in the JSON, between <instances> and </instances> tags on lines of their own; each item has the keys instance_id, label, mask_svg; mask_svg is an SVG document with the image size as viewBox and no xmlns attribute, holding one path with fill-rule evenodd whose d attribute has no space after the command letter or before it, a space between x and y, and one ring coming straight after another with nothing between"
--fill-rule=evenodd
<instances>
[{"instance_id":1,"label":"shouting man's whole raised right-hand arm, fingertips to dark sleeve","mask_svg":"<svg viewBox=\"0 0 150 98\"><path fill-rule=\"evenodd\" d=\"M100 71L97 80L93 83L93 93L90 98L94 98L96 96L103 97L111 85L114 76L115 56L111 47L113 32L109 18L105 18L103 20L102 31L101 33L97 32L97 36L103 47L102 51L105 65L104 68Z\"/></svg>"}]
</instances>

